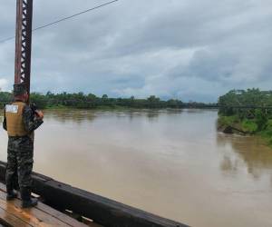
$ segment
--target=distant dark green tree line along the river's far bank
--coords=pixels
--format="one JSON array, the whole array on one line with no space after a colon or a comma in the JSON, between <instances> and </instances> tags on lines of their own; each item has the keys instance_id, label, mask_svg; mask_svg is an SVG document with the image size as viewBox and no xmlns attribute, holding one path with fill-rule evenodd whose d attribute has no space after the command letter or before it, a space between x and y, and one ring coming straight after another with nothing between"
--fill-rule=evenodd
<instances>
[{"instance_id":1,"label":"distant dark green tree line along the river's far bank","mask_svg":"<svg viewBox=\"0 0 272 227\"><path fill-rule=\"evenodd\" d=\"M12 100L12 94L0 92L0 104L4 105ZM136 99L134 96L130 98L110 98L107 94L98 97L94 94L31 94L31 102L37 104L41 109L50 108L209 108L217 107L217 104L202 103L183 103L177 99L168 101L160 100L159 97L151 95L147 99Z\"/></svg>"}]
</instances>

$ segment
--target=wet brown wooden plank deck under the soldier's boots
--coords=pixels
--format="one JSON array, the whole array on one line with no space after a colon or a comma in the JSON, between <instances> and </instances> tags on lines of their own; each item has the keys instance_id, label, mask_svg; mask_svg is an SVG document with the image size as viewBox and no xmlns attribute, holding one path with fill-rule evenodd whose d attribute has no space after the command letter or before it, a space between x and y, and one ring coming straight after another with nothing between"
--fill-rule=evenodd
<instances>
[{"instance_id":1,"label":"wet brown wooden plank deck under the soldier's boots","mask_svg":"<svg viewBox=\"0 0 272 227\"><path fill-rule=\"evenodd\" d=\"M21 209L20 199L6 202L5 185L0 183L0 226L97 226L95 224L85 225L69 217L63 212L53 210L53 208L39 202L32 209Z\"/></svg>"}]
</instances>

